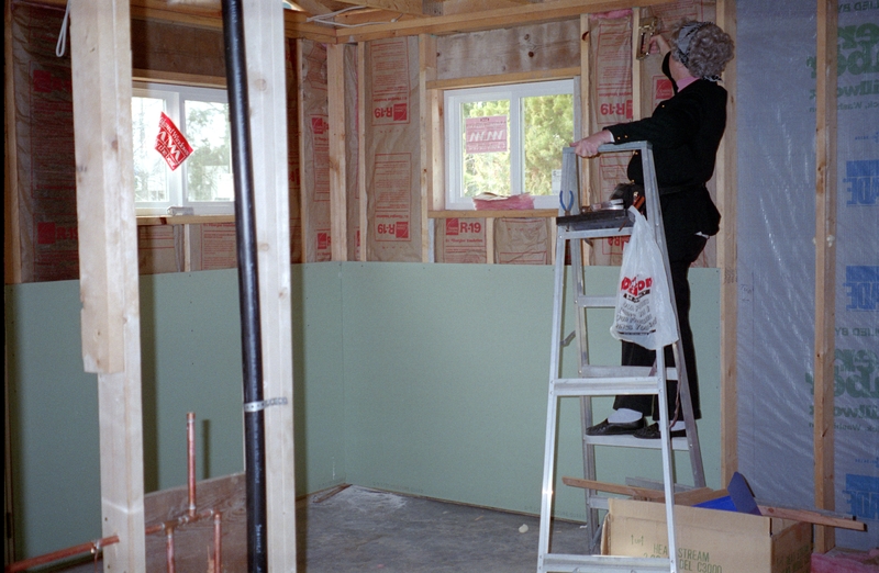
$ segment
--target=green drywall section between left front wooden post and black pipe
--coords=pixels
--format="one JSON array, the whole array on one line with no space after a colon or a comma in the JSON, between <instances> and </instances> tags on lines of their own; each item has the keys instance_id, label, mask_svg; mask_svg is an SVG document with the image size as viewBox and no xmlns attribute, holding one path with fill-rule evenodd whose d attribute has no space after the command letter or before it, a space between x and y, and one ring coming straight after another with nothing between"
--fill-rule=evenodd
<instances>
[{"instance_id":1,"label":"green drywall section between left front wooden post and black pipe","mask_svg":"<svg viewBox=\"0 0 879 573\"><path fill-rule=\"evenodd\" d=\"M186 417L196 415L196 478L244 469L235 271L141 277L144 487L187 483Z\"/></svg>"}]
</instances>

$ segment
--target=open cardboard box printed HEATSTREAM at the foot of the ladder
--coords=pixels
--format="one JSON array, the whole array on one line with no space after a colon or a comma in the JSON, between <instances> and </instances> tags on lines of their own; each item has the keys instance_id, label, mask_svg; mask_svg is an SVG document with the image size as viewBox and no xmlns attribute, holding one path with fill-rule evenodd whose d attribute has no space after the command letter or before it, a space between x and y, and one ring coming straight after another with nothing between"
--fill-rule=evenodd
<instances>
[{"instance_id":1,"label":"open cardboard box printed HEATSTREAM at the foot of the ladder","mask_svg":"<svg viewBox=\"0 0 879 573\"><path fill-rule=\"evenodd\" d=\"M810 524L681 505L675 524L680 572L809 573ZM667 558L665 504L610 499L601 553Z\"/></svg>"}]
</instances>

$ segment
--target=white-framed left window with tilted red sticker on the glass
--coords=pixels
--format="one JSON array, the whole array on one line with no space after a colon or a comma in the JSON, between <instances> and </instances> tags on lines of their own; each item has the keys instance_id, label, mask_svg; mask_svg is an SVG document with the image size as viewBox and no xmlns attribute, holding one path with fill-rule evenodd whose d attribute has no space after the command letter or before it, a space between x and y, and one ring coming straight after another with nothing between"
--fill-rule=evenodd
<instances>
[{"instance_id":1,"label":"white-framed left window with tilted red sticker on the glass","mask_svg":"<svg viewBox=\"0 0 879 573\"><path fill-rule=\"evenodd\" d=\"M226 91L157 83L132 90L134 196L138 215L191 207L197 215L234 212L232 144ZM165 113L192 148L176 169L156 150Z\"/></svg>"}]
</instances>

